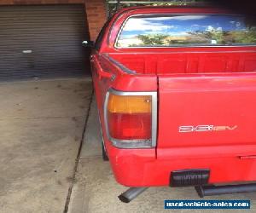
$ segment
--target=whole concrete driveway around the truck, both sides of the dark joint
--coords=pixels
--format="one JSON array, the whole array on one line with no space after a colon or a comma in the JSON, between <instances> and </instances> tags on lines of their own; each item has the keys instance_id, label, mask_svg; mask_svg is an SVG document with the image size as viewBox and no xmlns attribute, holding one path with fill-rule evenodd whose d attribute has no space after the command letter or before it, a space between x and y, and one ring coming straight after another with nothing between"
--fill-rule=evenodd
<instances>
[{"instance_id":1,"label":"whole concrete driveway around the truck, both sides of the dark joint","mask_svg":"<svg viewBox=\"0 0 256 213\"><path fill-rule=\"evenodd\" d=\"M152 187L119 202L126 187L102 161L91 93L90 79L0 83L0 212L160 213L165 199L199 199L193 187ZM256 193L207 199L250 199L256 212ZM175 212L191 211L206 212Z\"/></svg>"}]
</instances>

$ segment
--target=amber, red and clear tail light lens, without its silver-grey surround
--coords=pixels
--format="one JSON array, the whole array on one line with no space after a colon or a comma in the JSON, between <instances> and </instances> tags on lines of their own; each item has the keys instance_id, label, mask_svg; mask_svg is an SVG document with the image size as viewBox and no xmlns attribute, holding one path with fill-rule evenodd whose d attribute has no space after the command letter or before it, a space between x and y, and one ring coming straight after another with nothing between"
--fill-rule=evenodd
<instances>
[{"instance_id":1,"label":"amber, red and clear tail light lens, without its silver-grey surround","mask_svg":"<svg viewBox=\"0 0 256 213\"><path fill-rule=\"evenodd\" d=\"M108 135L112 141L130 144L132 147L137 143L146 143L144 147L150 146L153 137L152 95L109 93L106 110Z\"/></svg>"}]
</instances>

